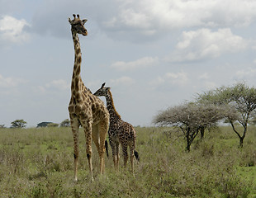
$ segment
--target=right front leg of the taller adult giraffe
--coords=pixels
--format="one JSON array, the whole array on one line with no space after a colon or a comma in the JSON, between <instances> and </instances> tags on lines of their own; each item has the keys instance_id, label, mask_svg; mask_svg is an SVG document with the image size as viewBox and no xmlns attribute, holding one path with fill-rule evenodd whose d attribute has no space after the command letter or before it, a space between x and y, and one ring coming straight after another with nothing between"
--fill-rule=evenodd
<instances>
[{"instance_id":1,"label":"right front leg of the taller adult giraffe","mask_svg":"<svg viewBox=\"0 0 256 198\"><path fill-rule=\"evenodd\" d=\"M83 125L83 130L85 134L85 141L86 141L86 154L88 158L88 165L89 170L92 176L93 180L93 174L92 174L92 121L91 120L83 120L81 122Z\"/></svg>"}]
</instances>

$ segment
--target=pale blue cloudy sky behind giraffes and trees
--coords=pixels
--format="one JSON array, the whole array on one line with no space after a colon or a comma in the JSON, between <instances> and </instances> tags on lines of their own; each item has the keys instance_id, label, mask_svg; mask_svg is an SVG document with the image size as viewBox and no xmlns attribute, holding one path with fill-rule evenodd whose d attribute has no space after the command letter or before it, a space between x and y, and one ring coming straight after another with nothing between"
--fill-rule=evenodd
<instances>
[{"instance_id":1,"label":"pale blue cloudy sky behind giraffes and trees","mask_svg":"<svg viewBox=\"0 0 256 198\"><path fill-rule=\"evenodd\" d=\"M86 87L106 82L121 118L149 126L197 93L256 84L255 10L254 0L0 0L0 125L69 118L73 13L88 19Z\"/></svg>"}]
</instances>

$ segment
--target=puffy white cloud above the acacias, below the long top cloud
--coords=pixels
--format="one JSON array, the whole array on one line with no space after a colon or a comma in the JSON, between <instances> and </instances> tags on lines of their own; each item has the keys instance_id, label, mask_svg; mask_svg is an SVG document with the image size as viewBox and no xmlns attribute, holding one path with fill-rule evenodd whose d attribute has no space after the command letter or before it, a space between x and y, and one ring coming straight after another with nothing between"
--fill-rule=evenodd
<instances>
[{"instance_id":1,"label":"puffy white cloud above the acacias, below the long top cloud","mask_svg":"<svg viewBox=\"0 0 256 198\"><path fill-rule=\"evenodd\" d=\"M167 58L173 62L192 61L217 58L221 54L235 53L245 50L248 41L239 35L234 35L229 28L211 31L183 31L181 40L176 45L176 51Z\"/></svg>"}]
</instances>

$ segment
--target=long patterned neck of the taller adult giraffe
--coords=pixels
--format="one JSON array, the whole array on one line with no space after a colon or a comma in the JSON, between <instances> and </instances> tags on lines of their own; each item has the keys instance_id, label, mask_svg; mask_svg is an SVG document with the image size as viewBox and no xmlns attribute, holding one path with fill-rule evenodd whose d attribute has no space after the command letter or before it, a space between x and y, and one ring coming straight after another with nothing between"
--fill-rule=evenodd
<instances>
[{"instance_id":1,"label":"long patterned neck of the taller adult giraffe","mask_svg":"<svg viewBox=\"0 0 256 198\"><path fill-rule=\"evenodd\" d=\"M80 48L80 42L78 38L78 34L72 31L73 37L73 48L74 48L74 64L73 64L73 76L71 82L71 94L76 99L76 101L80 101L82 98L82 79L80 76L81 71L81 62L82 62L82 54Z\"/></svg>"}]
</instances>

